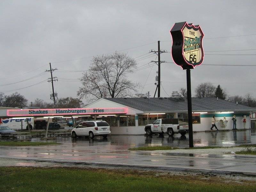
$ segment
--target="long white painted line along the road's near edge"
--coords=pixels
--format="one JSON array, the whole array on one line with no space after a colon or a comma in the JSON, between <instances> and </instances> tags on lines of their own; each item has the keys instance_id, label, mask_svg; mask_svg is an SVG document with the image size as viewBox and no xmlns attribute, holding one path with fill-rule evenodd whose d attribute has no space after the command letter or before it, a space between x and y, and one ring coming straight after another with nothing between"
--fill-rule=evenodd
<instances>
[{"instance_id":1,"label":"long white painted line along the road's near edge","mask_svg":"<svg viewBox=\"0 0 256 192\"><path fill-rule=\"evenodd\" d=\"M240 173L256 173L251 171L235 171L235 170L223 170L223 169L207 169L207 168L194 168L194 167L175 167L165 165L146 165L146 164L127 164L127 163L105 163L97 161L72 161L72 160L58 160L58 159L39 159L39 158L21 158L21 157L5 157L0 158L10 159L21 159L21 160L40 160L40 161L57 161L57 162L71 162L71 163L88 163L88 164L106 164L106 165L132 165L132 166L146 166L146 167L165 167L165 168L182 168L182 169L193 169L193 170L207 170L207 171L224 171L224 172L240 172Z\"/></svg>"}]
</instances>

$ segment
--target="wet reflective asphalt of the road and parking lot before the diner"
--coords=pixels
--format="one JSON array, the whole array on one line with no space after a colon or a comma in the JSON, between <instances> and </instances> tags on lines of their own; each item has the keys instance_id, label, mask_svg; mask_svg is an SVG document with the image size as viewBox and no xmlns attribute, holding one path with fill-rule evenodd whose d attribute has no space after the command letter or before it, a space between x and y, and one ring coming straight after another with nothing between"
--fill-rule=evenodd
<instances>
[{"instance_id":1,"label":"wet reflective asphalt of the road and parking lot before the diner","mask_svg":"<svg viewBox=\"0 0 256 192\"><path fill-rule=\"evenodd\" d=\"M193 134L194 146L236 146L256 144L256 130L227 132L197 132ZM36 139L34 140L36 141ZM0 157L51 161L59 163L84 163L111 166L153 167L168 170L207 172L243 172L256 174L256 157L233 154L173 153L172 151L130 151L141 146L188 147L188 136L164 135L112 135L88 138L58 138L60 145L31 147L0 147Z\"/></svg>"}]
</instances>

